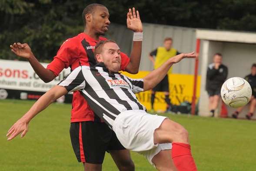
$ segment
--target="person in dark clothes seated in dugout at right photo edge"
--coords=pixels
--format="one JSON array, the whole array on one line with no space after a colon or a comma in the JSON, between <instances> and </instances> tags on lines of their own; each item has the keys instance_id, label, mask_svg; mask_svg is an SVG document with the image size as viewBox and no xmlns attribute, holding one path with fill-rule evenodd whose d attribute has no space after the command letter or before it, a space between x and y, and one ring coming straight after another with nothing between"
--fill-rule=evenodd
<instances>
[{"instance_id":1,"label":"person in dark clothes seated in dugout at right photo edge","mask_svg":"<svg viewBox=\"0 0 256 171\"><path fill-rule=\"evenodd\" d=\"M251 73L247 76L245 76L246 81L249 82L252 88L252 97L250 99L250 107L249 107L249 112L246 115L247 119L251 119L253 116L253 113L255 112L256 108L256 63L254 63L251 67ZM233 118L237 118L238 114L242 112L244 106L236 109L236 111L232 114Z\"/></svg>"}]
</instances>

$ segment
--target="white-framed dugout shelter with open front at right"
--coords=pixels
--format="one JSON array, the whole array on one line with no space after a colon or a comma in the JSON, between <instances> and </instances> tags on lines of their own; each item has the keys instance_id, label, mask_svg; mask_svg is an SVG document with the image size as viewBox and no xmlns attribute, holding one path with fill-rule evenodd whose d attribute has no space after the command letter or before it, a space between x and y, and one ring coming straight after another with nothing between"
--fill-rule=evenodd
<instances>
[{"instance_id":1,"label":"white-framed dugout shelter with open front at right","mask_svg":"<svg viewBox=\"0 0 256 171\"><path fill-rule=\"evenodd\" d=\"M228 78L244 78L251 72L251 66L256 63L256 33L235 32L223 30L196 30L196 39L200 40L200 98L199 115L208 116L208 95L205 90L206 70L212 62L214 53L222 53L223 64L229 69ZM239 117L245 117L249 107L241 112ZM220 107L218 112L220 113ZM229 116L235 109L227 107ZM254 115L255 118L255 115Z\"/></svg>"}]
</instances>

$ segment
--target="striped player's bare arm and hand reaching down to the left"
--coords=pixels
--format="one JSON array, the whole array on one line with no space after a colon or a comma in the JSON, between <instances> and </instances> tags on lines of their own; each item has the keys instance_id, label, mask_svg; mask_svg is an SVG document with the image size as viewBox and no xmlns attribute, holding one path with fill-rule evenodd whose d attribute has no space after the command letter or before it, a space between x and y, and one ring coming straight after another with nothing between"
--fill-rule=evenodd
<instances>
[{"instance_id":1,"label":"striped player's bare arm and hand reaching down to the left","mask_svg":"<svg viewBox=\"0 0 256 171\"><path fill-rule=\"evenodd\" d=\"M30 108L30 110L23 115L7 132L7 140L11 140L19 135L21 132L21 137L23 137L28 131L28 124L30 120L36 116L43 109L47 108L52 102L65 95L67 90L65 87L56 85L51 88L48 92L40 97L37 102Z\"/></svg>"}]
</instances>

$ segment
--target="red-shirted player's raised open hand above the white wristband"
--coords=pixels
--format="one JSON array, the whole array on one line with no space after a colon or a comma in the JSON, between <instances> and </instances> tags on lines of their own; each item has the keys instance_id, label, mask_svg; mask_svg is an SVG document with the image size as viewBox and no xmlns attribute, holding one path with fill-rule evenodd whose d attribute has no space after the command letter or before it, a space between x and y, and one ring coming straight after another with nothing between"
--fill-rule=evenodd
<instances>
[{"instance_id":1,"label":"red-shirted player's raised open hand above the white wristband","mask_svg":"<svg viewBox=\"0 0 256 171\"><path fill-rule=\"evenodd\" d=\"M143 31L139 11L135 11L134 7L133 10L129 9L129 12L127 13L127 28L134 32Z\"/></svg>"}]
</instances>

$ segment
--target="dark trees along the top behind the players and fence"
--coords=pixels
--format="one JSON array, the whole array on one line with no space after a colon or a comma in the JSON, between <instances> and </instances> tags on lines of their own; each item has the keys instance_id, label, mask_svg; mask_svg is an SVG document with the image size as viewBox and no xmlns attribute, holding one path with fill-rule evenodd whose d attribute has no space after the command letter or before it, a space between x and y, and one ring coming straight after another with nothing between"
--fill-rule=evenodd
<instances>
[{"instance_id":1,"label":"dark trees along the top behind the players and fence","mask_svg":"<svg viewBox=\"0 0 256 171\"><path fill-rule=\"evenodd\" d=\"M9 45L19 41L51 61L66 38L83 31L81 13L90 3L104 4L110 21L123 25L134 6L145 23L256 31L256 0L1 0L0 59L16 59Z\"/></svg>"}]
</instances>

